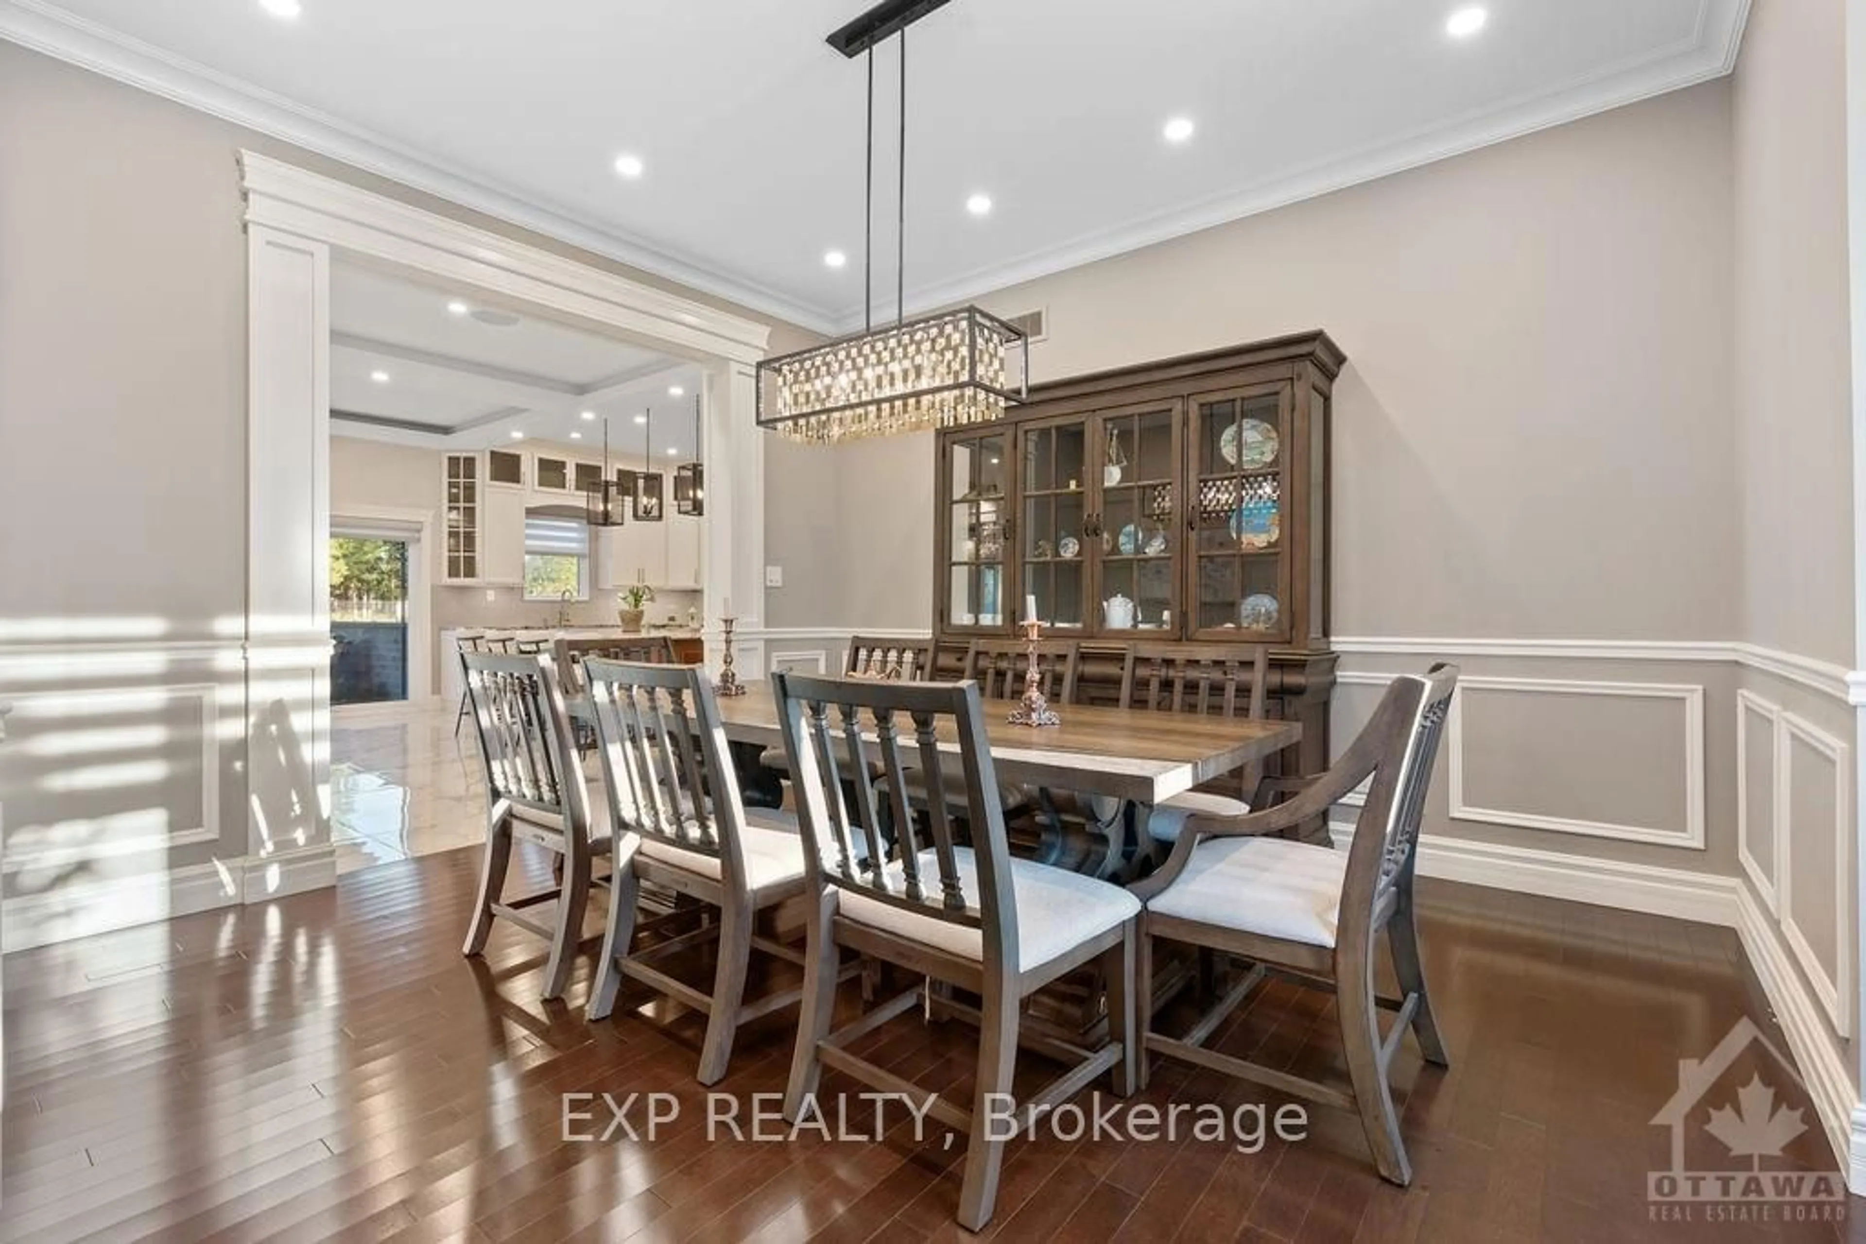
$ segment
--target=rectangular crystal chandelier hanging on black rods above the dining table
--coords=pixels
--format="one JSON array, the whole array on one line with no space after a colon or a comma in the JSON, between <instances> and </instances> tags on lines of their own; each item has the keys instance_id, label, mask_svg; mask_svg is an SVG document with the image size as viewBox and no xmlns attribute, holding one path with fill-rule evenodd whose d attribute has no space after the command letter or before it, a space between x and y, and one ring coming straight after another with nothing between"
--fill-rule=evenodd
<instances>
[{"instance_id":1,"label":"rectangular crystal chandelier hanging on black rods above the dining table","mask_svg":"<svg viewBox=\"0 0 1866 1244\"><path fill-rule=\"evenodd\" d=\"M1021 328L976 306L905 319L907 306L907 26L946 0L888 0L829 37L843 56L868 56L868 185L864 330L758 364L758 425L791 440L834 444L937 427L989 423L1021 405L1030 343ZM873 325L875 45L901 37L901 179L896 319Z\"/></svg>"}]
</instances>

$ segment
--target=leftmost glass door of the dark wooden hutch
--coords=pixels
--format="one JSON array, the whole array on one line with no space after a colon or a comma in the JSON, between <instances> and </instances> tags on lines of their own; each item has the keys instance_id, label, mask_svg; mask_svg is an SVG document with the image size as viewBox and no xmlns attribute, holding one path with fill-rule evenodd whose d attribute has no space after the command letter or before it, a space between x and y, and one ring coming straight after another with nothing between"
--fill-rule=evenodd
<instances>
[{"instance_id":1,"label":"leftmost glass door of the dark wooden hutch","mask_svg":"<svg viewBox=\"0 0 1866 1244\"><path fill-rule=\"evenodd\" d=\"M1002 431L942 442L940 548L948 629L1000 630L1010 621L1004 558L1008 457Z\"/></svg>"}]
</instances>

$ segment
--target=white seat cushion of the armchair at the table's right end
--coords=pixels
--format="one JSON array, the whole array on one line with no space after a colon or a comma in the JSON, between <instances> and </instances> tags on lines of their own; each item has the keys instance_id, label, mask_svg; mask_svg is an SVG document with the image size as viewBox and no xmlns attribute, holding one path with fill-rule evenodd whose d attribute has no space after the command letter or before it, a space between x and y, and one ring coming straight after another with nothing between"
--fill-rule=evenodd
<instances>
[{"instance_id":1,"label":"white seat cushion of the armchair at the table's right end","mask_svg":"<svg viewBox=\"0 0 1866 1244\"><path fill-rule=\"evenodd\" d=\"M1347 852L1282 837L1213 837L1148 910L1304 946L1334 946Z\"/></svg>"}]
</instances>

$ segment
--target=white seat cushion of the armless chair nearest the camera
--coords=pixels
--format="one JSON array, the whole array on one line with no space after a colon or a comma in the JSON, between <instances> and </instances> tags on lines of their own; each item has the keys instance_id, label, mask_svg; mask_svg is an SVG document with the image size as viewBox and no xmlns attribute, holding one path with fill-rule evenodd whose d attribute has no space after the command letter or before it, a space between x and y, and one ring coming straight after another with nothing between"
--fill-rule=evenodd
<instances>
[{"instance_id":1,"label":"white seat cushion of the armless chair nearest the camera","mask_svg":"<svg viewBox=\"0 0 1866 1244\"><path fill-rule=\"evenodd\" d=\"M959 865L959 888L967 905L978 905L978 862L968 847L954 849ZM901 865L890 864L894 884L901 882ZM929 893L939 890L939 858L920 852L920 880ZM1011 892L1017 905L1017 970L1030 972L1082 942L1114 929L1140 914L1140 901L1120 886L1067 869L1011 860ZM924 946L974 962L985 957L985 934L935 916L918 916L905 908L870 899L853 888L842 890L842 914L849 919L892 933Z\"/></svg>"}]
</instances>

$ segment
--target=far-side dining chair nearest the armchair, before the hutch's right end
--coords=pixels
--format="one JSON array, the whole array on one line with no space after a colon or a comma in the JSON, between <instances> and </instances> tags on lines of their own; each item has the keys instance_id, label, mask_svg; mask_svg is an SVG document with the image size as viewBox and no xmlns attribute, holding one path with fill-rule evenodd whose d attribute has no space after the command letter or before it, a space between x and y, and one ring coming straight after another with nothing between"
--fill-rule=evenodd
<instances>
[{"instance_id":1,"label":"far-side dining chair nearest the armchair, before the hutch's right end","mask_svg":"<svg viewBox=\"0 0 1866 1244\"><path fill-rule=\"evenodd\" d=\"M1269 658L1267 643L1131 643L1121 660L1120 705L1261 722ZM1172 843L1187 817L1198 813L1243 817L1261 780L1263 763L1252 761L1235 780L1224 778L1235 796L1213 789L1174 795L1146 811L1148 836Z\"/></svg>"}]
</instances>

